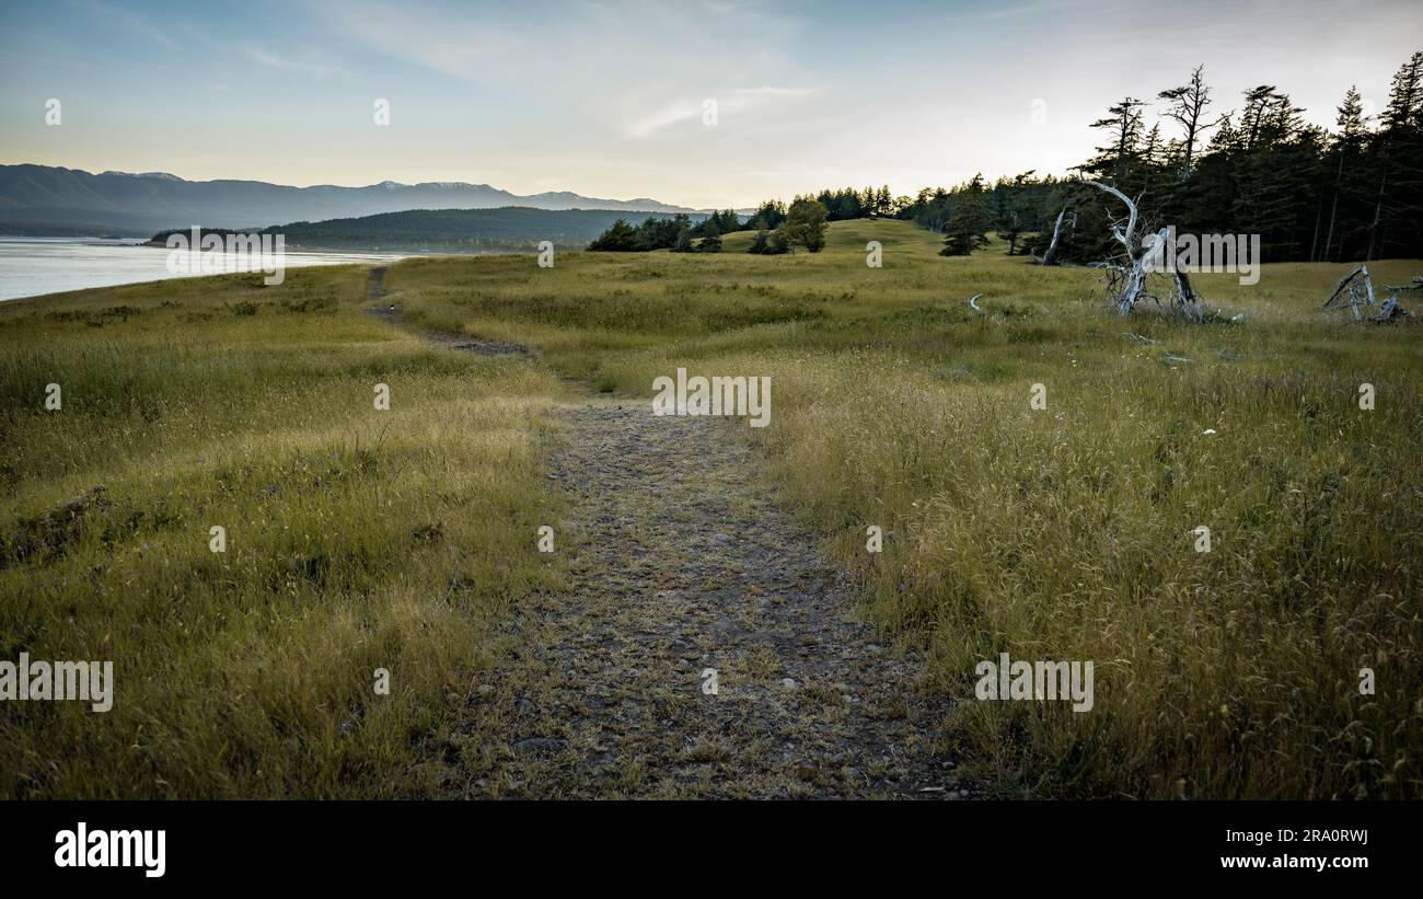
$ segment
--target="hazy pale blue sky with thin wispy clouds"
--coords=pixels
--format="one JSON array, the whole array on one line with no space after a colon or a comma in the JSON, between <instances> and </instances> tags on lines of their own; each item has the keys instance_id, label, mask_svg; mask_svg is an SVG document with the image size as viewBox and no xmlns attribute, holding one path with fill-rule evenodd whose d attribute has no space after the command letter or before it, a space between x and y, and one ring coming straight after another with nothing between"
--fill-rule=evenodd
<instances>
[{"instance_id":1,"label":"hazy pale blue sky with thin wispy clouds","mask_svg":"<svg viewBox=\"0 0 1423 899\"><path fill-rule=\"evenodd\" d=\"M1110 102L1198 63L1217 111L1258 84L1318 124L1350 84L1379 111L1420 48L1419 0L0 0L0 162L697 208L912 193L1060 174Z\"/></svg>"}]
</instances>

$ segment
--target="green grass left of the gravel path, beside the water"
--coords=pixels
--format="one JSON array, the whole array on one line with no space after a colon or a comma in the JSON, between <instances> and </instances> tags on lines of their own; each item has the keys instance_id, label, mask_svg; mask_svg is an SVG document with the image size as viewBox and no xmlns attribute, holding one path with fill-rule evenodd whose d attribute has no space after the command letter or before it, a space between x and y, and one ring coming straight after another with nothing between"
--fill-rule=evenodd
<instances>
[{"instance_id":1,"label":"green grass left of the gravel path, beside the water","mask_svg":"<svg viewBox=\"0 0 1423 899\"><path fill-rule=\"evenodd\" d=\"M4 703L0 795L438 791L492 626L554 583L534 467L559 387L364 294L344 267L0 306L0 659L110 659L117 684L104 714Z\"/></svg>"}]
</instances>

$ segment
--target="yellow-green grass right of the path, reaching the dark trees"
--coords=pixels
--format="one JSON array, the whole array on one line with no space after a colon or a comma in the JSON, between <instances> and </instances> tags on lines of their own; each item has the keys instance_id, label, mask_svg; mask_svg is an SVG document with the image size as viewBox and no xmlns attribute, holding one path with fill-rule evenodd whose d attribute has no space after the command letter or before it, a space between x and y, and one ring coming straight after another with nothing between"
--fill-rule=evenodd
<instances>
[{"instance_id":1,"label":"yellow-green grass right of the path, reaching the dark trees","mask_svg":"<svg viewBox=\"0 0 1423 899\"><path fill-rule=\"evenodd\" d=\"M1185 326L1117 317L1090 269L945 259L898 222L830 235L814 256L730 235L720 256L430 260L391 283L433 326L628 397L677 366L771 376L757 437L788 495L966 700L948 740L1006 795L1423 794L1416 326L1321 314L1346 266L1198 276L1245 320ZM999 651L1093 660L1096 710L975 701Z\"/></svg>"}]
</instances>

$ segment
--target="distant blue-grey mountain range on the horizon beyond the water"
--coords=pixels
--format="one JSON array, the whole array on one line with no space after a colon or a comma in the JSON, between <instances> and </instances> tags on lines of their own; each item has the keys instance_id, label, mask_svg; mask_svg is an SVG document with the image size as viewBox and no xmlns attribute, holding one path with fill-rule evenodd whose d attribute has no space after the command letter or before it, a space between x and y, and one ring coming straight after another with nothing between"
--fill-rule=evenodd
<instances>
[{"instance_id":1,"label":"distant blue-grey mountain range on the horizon beyond the water","mask_svg":"<svg viewBox=\"0 0 1423 899\"><path fill-rule=\"evenodd\" d=\"M606 209L699 212L655 199L599 199L565 191L519 196L485 183L384 181L366 188L290 188L265 181L185 181L166 172L101 172L0 165L0 233L148 236L168 228L266 228L410 209Z\"/></svg>"}]
</instances>

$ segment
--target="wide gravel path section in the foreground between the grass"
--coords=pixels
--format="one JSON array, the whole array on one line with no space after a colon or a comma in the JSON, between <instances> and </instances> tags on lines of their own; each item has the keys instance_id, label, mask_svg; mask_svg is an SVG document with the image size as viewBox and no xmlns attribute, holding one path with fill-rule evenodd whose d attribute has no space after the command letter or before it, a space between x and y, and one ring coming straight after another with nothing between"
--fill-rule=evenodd
<instances>
[{"instance_id":1,"label":"wide gravel path section in the foreground between the grass","mask_svg":"<svg viewBox=\"0 0 1423 899\"><path fill-rule=\"evenodd\" d=\"M946 703L852 620L744 420L593 400L564 424L569 589L507 624L461 740L467 795L975 795L935 751Z\"/></svg>"}]
</instances>

